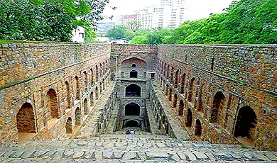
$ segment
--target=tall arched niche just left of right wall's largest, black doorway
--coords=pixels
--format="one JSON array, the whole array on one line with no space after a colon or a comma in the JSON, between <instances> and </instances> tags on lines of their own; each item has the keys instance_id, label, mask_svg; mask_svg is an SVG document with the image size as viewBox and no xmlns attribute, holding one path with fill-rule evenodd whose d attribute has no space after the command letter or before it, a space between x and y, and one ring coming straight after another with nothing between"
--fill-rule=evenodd
<instances>
[{"instance_id":1,"label":"tall arched niche just left of right wall's largest, black doorway","mask_svg":"<svg viewBox=\"0 0 277 163\"><path fill-rule=\"evenodd\" d=\"M212 102L212 113L211 113L210 123L219 123L218 121L219 111L222 108L224 99L225 99L225 96L222 93L222 91L217 91L217 93L214 95L214 100Z\"/></svg>"}]
</instances>

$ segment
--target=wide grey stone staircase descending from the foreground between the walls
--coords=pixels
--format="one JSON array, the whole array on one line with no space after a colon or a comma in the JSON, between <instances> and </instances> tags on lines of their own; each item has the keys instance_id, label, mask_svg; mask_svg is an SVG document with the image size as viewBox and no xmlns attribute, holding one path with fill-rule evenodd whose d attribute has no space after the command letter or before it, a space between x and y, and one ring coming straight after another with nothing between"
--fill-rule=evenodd
<instances>
[{"instance_id":1,"label":"wide grey stone staircase descending from the foreground between the walls","mask_svg":"<svg viewBox=\"0 0 277 163\"><path fill-rule=\"evenodd\" d=\"M35 141L0 148L0 162L277 162L277 152L116 131L85 140Z\"/></svg>"}]
</instances>

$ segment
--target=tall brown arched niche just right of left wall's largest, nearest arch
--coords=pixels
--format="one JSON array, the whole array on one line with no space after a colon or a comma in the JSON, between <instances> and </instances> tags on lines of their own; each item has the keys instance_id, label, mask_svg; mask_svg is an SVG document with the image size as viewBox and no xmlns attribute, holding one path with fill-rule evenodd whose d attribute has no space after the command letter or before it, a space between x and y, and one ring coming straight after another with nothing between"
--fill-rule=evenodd
<instances>
[{"instance_id":1,"label":"tall brown arched niche just right of left wall's largest, nearest arch","mask_svg":"<svg viewBox=\"0 0 277 163\"><path fill-rule=\"evenodd\" d=\"M50 111L50 118L59 118L58 98L54 89L49 89L47 92L47 108Z\"/></svg>"}]
</instances>

